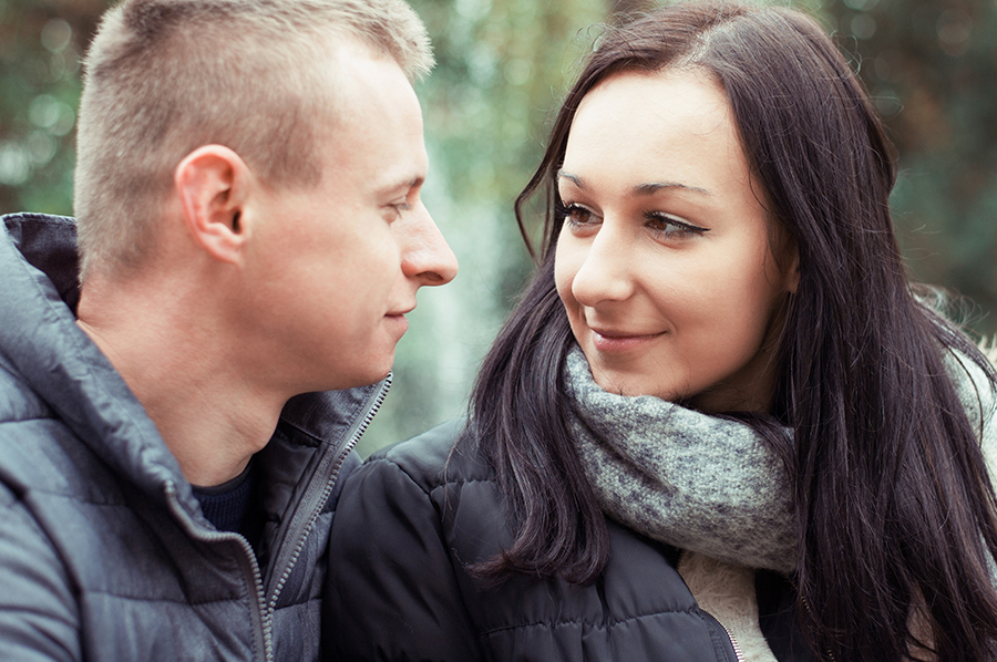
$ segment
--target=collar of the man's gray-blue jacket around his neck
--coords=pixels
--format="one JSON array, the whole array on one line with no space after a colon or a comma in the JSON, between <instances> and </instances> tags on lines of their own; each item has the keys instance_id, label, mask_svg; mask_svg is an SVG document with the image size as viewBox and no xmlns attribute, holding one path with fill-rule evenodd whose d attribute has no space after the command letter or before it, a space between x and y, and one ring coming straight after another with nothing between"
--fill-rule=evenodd
<instances>
[{"instance_id":1,"label":"collar of the man's gray-blue jacket around his neck","mask_svg":"<svg viewBox=\"0 0 997 662\"><path fill-rule=\"evenodd\" d=\"M168 483L192 516L199 505L124 380L75 323L76 226L41 214L3 216L0 228L0 355L84 443L119 474L163 501ZM336 447L369 416L382 384L305 393L280 417L294 439Z\"/></svg>"}]
</instances>

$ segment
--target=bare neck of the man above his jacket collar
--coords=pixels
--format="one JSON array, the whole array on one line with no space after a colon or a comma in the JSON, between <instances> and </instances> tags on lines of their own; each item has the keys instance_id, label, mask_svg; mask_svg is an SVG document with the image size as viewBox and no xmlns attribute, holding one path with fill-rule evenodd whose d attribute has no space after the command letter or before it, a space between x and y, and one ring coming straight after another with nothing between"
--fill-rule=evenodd
<instances>
[{"instance_id":1,"label":"bare neck of the man above his jacket collar","mask_svg":"<svg viewBox=\"0 0 997 662\"><path fill-rule=\"evenodd\" d=\"M84 287L80 328L144 405L187 480L230 480L267 444L287 397L247 379L238 339L204 310L203 296L134 289Z\"/></svg>"}]
</instances>

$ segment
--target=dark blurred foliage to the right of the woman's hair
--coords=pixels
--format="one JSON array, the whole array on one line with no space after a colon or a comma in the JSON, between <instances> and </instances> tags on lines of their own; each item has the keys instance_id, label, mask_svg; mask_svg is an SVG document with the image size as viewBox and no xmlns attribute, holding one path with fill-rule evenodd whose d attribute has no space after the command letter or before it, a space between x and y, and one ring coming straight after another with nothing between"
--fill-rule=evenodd
<instances>
[{"instance_id":1,"label":"dark blurred foliage to the right of the woman's hair","mask_svg":"<svg viewBox=\"0 0 997 662\"><path fill-rule=\"evenodd\" d=\"M845 0L829 13L901 153L893 210L925 282L997 331L997 3ZM985 317L986 316L986 317Z\"/></svg>"}]
</instances>

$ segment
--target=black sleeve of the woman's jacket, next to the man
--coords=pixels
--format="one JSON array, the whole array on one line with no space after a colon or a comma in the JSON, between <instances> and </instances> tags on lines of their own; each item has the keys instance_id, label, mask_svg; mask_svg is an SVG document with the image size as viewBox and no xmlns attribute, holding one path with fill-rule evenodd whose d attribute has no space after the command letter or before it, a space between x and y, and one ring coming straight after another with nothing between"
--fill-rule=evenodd
<instances>
[{"instance_id":1,"label":"black sleeve of the woman's jacket, next to the man","mask_svg":"<svg viewBox=\"0 0 997 662\"><path fill-rule=\"evenodd\" d=\"M389 459L346 482L322 600L326 661L481 659L438 510Z\"/></svg>"}]
</instances>

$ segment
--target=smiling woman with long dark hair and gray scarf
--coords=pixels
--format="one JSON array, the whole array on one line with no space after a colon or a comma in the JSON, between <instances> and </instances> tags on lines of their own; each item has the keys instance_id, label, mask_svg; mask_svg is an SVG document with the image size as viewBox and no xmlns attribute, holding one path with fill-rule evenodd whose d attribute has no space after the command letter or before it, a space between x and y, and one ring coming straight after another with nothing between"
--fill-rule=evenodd
<instances>
[{"instance_id":1,"label":"smiling woman with long dark hair and gray scarf","mask_svg":"<svg viewBox=\"0 0 997 662\"><path fill-rule=\"evenodd\" d=\"M327 658L732 660L697 599L746 594L749 659L997 655L995 374L913 293L894 178L800 13L606 34L517 201L546 200L539 268L466 426L345 487Z\"/></svg>"}]
</instances>

